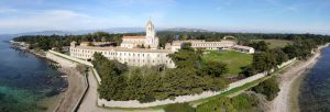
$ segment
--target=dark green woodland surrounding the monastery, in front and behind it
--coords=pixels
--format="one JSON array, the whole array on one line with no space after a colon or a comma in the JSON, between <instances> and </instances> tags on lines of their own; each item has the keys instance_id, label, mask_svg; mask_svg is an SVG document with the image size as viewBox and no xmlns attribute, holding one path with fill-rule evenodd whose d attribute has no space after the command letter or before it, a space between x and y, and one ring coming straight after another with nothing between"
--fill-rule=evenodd
<instances>
[{"instance_id":1,"label":"dark green woodland surrounding the monastery, in front and behind it","mask_svg":"<svg viewBox=\"0 0 330 112\"><path fill-rule=\"evenodd\" d=\"M112 41L120 44L122 35L141 35L142 33L108 34L103 32L87 35L32 35L15 37L14 41L28 42L31 48L50 49L68 46L72 41ZM254 47L252 64L244 67L240 76L249 77L257 72L271 70L277 65L297 57L306 59L311 56L311 51L318 45L330 42L328 35L314 34L256 34L256 33L212 33L212 32L158 32L161 46L174 40L206 40L220 41L223 36L235 36L238 44ZM251 40L286 40L292 43L270 48L264 41L253 42ZM189 44L169 57L175 61L177 68L167 69L164 66L154 67L129 67L117 60L109 60L101 54L95 54L92 64L98 70L102 85L98 91L100 98L107 100L139 100L151 102L156 99L175 98L177 96L200 93L206 90L219 91L226 88L229 79L223 75L228 72L228 65L222 61L202 61L204 52L193 49ZM264 86L263 86L264 85ZM276 85L276 86L275 86ZM265 87L266 86L266 87ZM255 91L266 94L272 100L277 93L276 82L265 81L255 87ZM274 90L272 93L264 89Z\"/></svg>"}]
</instances>

